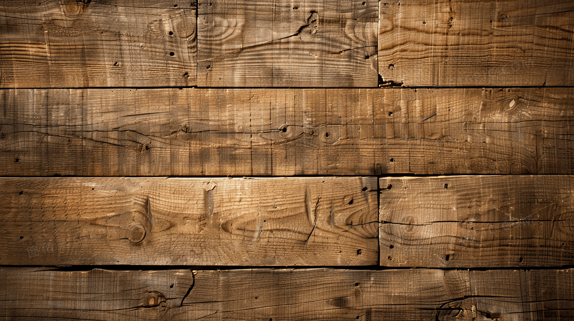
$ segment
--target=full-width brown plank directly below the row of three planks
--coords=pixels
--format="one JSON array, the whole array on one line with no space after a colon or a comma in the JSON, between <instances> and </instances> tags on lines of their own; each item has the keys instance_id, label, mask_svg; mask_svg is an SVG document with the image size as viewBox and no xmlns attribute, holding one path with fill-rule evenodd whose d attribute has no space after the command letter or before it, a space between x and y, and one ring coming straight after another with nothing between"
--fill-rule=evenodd
<instances>
[{"instance_id":1,"label":"full-width brown plank directly below the row of three planks","mask_svg":"<svg viewBox=\"0 0 574 321\"><path fill-rule=\"evenodd\" d=\"M573 94L10 89L0 175L572 174Z\"/></svg>"}]
</instances>

